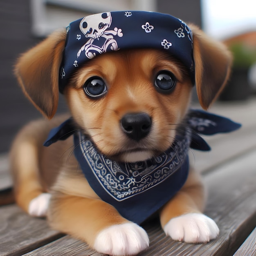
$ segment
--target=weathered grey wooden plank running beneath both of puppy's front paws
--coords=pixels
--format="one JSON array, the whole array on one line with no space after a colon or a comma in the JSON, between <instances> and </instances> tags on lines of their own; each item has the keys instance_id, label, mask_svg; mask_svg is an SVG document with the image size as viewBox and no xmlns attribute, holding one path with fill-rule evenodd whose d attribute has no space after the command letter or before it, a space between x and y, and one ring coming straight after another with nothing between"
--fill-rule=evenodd
<instances>
[{"instance_id":1,"label":"weathered grey wooden plank running beneath both of puppy's front paws","mask_svg":"<svg viewBox=\"0 0 256 256\"><path fill-rule=\"evenodd\" d=\"M152 222L145 226L150 236L150 248L139 255L233 255L256 225L255 159L256 150L204 175L209 190L206 214L220 227L220 235L216 240L202 245L175 242L165 236L158 222ZM66 244L68 254L65 252ZM85 243L65 236L26 256L88 255L86 252L88 247Z\"/></svg>"}]
</instances>

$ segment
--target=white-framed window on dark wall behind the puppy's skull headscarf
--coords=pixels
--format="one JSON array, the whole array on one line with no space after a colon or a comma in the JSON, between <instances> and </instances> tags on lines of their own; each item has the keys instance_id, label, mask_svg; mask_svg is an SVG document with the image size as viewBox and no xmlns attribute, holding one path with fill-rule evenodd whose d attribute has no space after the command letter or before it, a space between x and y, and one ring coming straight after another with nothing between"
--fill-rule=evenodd
<instances>
[{"instance_id":1,"label":"white-framed window on dark wall behind the puppy's skull headscarf","mask_svg":"<svg viewBox=\"0 0 256 256\"><path fill-rule=\"evenodd\" d=\"M156 0L31 0L32 32L44 37L92 13L121 10L155 11Z\"/></svg>"}]
</instances>

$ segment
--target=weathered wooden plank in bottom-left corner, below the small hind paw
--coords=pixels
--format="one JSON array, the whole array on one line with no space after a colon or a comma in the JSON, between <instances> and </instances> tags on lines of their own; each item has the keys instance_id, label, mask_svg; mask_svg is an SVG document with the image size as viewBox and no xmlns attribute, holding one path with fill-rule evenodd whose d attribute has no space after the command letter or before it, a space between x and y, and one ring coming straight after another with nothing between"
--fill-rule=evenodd
<instances>
[{"instance_id":1,"label":"weathered wooden plank in bottom-left corner, below the small hind paw","mask_svg":"<svg viewBox=\"0 0 256 256\"><path fill-rule=\"evenodd\" d=\"M63 236L16 205L0 207L0 256L18 256Z\"/></svg>"}]
</instances>

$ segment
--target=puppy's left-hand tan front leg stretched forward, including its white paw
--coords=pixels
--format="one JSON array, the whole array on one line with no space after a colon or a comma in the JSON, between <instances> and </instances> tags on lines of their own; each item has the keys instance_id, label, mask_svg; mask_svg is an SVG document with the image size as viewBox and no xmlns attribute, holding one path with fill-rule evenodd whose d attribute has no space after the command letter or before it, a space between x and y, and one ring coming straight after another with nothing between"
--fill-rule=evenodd
<instances>
[{"instance_id":1,"label":"puppy's left-hand tan front leg stretched forward, including its white paw","mask_svg":"<svg viewBox=\"0 0 256 256\"><path fill-rule=\"evenodd\" d=\"M134 255L149 245L144 229L99 199L53 194L48 217L54 229L84 240L101 253Z\"/></svg>"}]
</instances>

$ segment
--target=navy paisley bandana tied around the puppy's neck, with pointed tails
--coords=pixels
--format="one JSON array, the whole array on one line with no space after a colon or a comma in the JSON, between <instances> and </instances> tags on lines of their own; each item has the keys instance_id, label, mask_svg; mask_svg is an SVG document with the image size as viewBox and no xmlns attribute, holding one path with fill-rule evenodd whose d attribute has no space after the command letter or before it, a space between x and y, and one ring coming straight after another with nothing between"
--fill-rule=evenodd
<instances>
[{"instance_id":1,"label":"navy paisley bandana tied around the puppy's neck, with pointed tails","mask_svg":"<svg viewBox=\"0 0 256 256\"><path fill-rule=\"evenodd\" d=\"M50 146L74 134L74 153L92 189L126 219L141 224L159 210L184 185L189 172L188 148L210 150L199 134L213 135L240 128L230 119L202 110L190 110L175 143L143 162L112 161L94 147L72 119L54 128L45 141Z\"/></svg>"}]
</instances>

